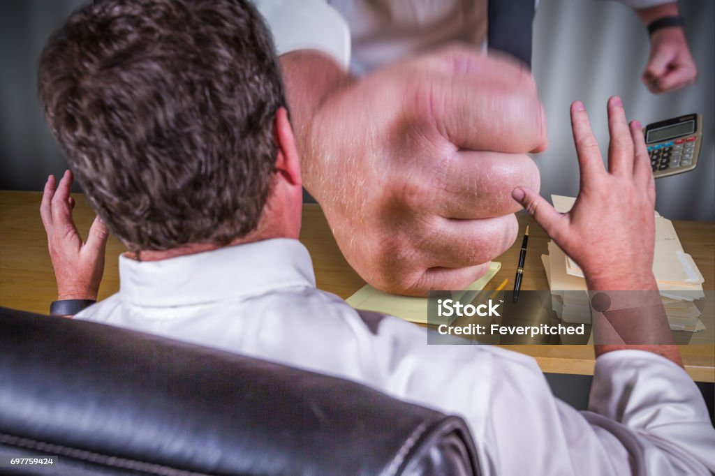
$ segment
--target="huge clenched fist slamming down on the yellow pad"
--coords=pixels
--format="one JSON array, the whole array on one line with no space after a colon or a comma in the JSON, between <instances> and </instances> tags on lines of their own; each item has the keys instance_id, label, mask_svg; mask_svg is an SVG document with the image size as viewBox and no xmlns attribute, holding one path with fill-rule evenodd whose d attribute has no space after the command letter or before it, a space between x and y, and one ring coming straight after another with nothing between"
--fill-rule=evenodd
<instances>
[{"instance_id":1,"label":"huge clenched fist slamming down on the yellow pad","mask_svg":"<svg viewBox=\"0 0 715 476\"><path fill-rule=\"evenodd\" d=\"M305 94L285 76L301 122ZM507 59L452 46L343 80L303 117L305 187L347 261L389 292L478 279L516 239L511 190L539 187L526 153L546 148L546 119Z\"/></svg>"}]
</instances>

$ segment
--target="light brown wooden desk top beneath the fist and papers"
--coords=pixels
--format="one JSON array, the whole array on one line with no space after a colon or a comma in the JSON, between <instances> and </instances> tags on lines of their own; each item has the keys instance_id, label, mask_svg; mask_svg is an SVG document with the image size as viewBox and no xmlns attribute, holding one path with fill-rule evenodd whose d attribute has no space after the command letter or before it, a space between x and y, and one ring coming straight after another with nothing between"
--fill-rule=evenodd
<instances>
[{"instance_id":1,"label":"light brown wooden desk top beneath the fist and papers","mask_svg":"<svg viewBox=\"0 0 715 476\"><path fill-rule=\"evenodd\" d=\"M81 196L75 196L74 216L83 236L94 214ZM0 306L46 313L56 299L54 274L46 249L46 237L39 217L39 192L0 191ZM548 289L541 254L547 253L548 238L541 227L526 214L518 214L519 228L531 227L529 252L524 267L522 289ZM715 289L715 223L674 222L684 248L695 259L706 281L704 289ZM340 254L325 217L315 204L303 206L300 240L313 259L317 287L343 299L365 284ZM495 289L503 279L513 281L521 239L498 261L501 271L488 284ZM114 237L107 245L99 299L117 292L119 275L117 257L124 247ZM593 349L588 345L514 345L503 346L536 358L544 372L593 374ZM694 380L715 382L715 348L711 345L680 346L686 370Z\"/></svg>"}]
</instances>

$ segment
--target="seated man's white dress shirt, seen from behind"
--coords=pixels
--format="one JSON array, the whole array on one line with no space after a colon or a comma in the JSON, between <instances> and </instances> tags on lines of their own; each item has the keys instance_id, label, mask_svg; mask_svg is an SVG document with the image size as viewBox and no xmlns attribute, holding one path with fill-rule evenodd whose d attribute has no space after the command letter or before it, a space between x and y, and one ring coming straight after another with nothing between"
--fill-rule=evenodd
<instances>
[{"instance_id":1,"label":"seated man's white dress shirt, seen from behind","mask_svg":"<svg viewBox=\"0 0 715 476\"><path fill-rule=\"evenodd\" d=\"M375 328L315 288L307 249L270 239L157 262L119 258L120 290L77 319L344 377L461 415L485 475L707 475L715 430L683 369L656 354L596 360L590 411L553 397L536 362L487 345L428 345Z\"/></svg>"}]
</instances>

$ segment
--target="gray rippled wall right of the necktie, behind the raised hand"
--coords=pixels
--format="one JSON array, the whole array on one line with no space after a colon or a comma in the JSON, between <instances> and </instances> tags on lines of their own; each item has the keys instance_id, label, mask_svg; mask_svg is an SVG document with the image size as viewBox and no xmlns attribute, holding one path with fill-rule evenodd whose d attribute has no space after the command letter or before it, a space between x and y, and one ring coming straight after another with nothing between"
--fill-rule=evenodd
<instances>
[{"instance_id":1,"label":"gray rippled wall right of the necktie, behind the raised hand","mask_svg":"<svg viewBox=\"0 0 715 476\"><path fill-rule=\"evenodd\" d=\"M715 220L715 2L681 0L679 8L699 79L680 91L655 95L641 82L650 44L631 9L615 1L541 0L534 24L532 64L551 142L536 158L543 197L578 193L578 165L568 115L571 102L581 99L586 105L606 157L606 101L618 94L628 119L644 124L681 114L703 114L699 165L693 172L656 180L656 209L671 219Z\"/></svg>"}]
</instances>

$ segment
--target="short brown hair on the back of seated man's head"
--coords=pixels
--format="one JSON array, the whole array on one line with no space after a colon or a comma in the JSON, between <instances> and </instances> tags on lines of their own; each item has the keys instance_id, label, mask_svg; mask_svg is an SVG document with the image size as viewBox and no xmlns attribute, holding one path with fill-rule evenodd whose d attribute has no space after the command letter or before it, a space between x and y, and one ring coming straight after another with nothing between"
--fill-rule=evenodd
<instances>
[{"instance_id":1,"label":"short brown hair on the back of seated man's head","mask_svg":"<svg viewBox=\"0 0 715 476\"><path fill-rule=\"evenodd\" d=\"M109 229L134 250L227 244L257 227L285 96L245 0L109 0L42 53L54 137Z\"/></svg>"}]
</instances>

